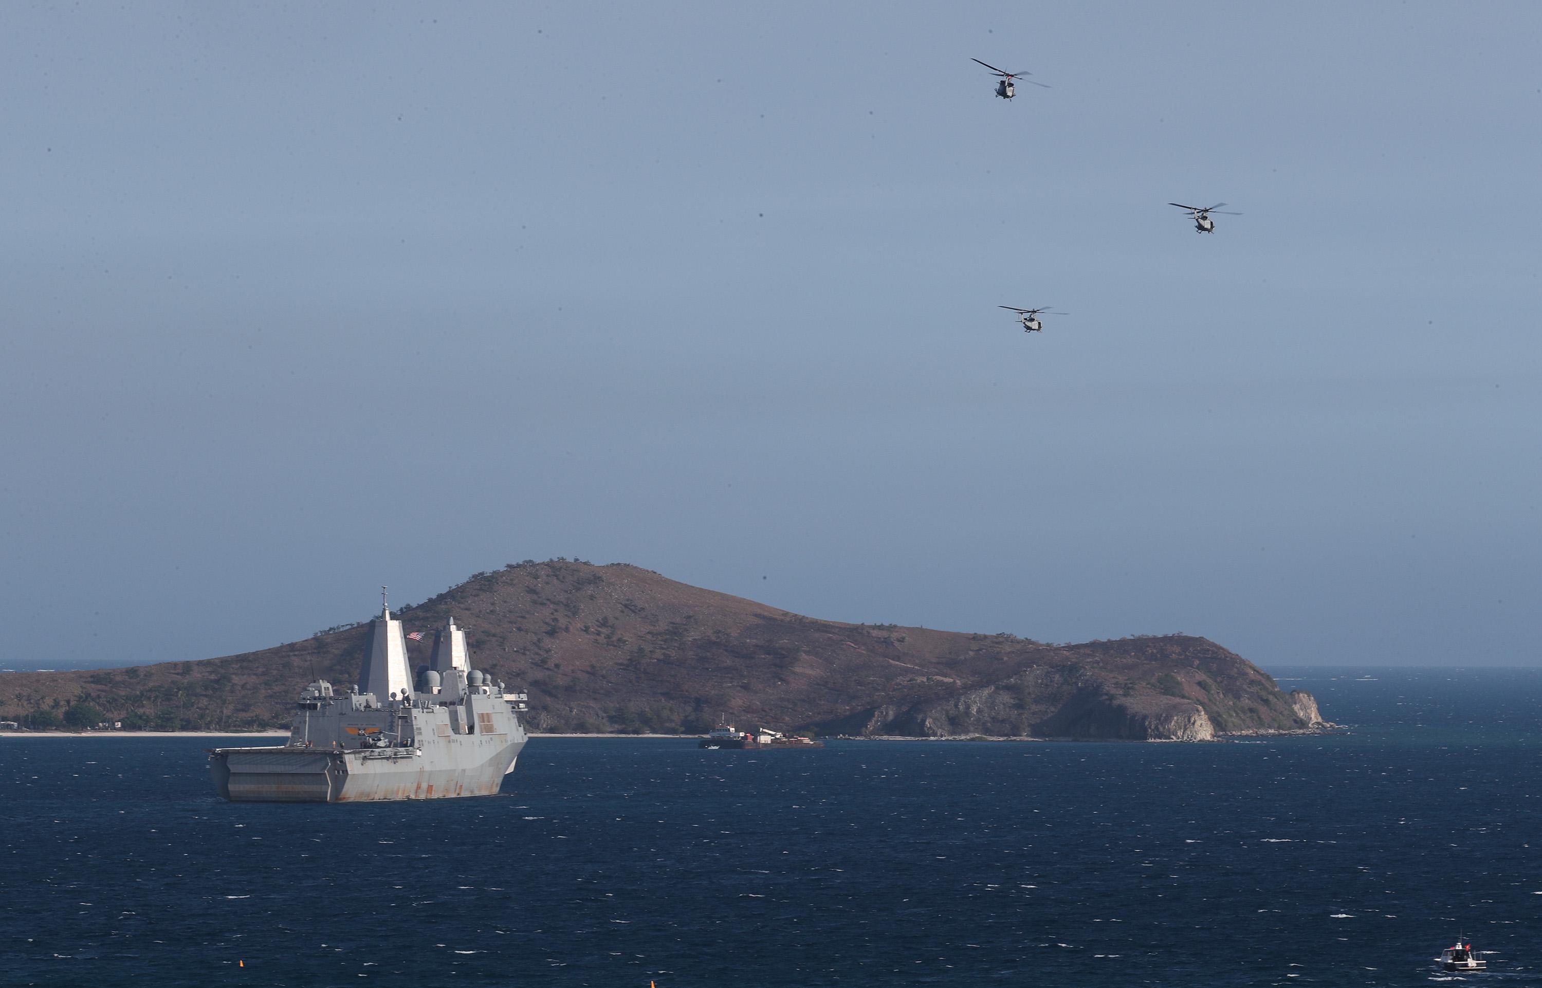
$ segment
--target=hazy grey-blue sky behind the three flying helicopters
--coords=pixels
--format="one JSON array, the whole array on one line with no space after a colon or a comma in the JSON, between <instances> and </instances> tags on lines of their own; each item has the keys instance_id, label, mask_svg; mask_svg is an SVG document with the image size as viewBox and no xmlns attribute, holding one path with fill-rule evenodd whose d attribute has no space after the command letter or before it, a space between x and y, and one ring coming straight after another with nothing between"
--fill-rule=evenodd
<instances>
[{"instance_id":1,"label":"hazy grey-blue sky behind the three flying helicopters","mask_svg":"<svg viewBox=\"0 0 1542 988\"><path fill-rule=\"evenodd\" d=\"M1539 5L0 22L0 666L555 555L1266 667L1539 661ZM1223 199L1215 236L1166 205Z\"/></svg>"}]
</instances>

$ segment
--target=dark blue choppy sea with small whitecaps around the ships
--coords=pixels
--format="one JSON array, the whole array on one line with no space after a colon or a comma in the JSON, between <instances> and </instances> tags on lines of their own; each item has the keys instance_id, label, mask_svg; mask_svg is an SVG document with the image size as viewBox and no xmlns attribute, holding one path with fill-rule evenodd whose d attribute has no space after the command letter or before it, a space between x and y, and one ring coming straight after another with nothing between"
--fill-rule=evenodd
<instances>
[{"instance_id":1,"label":"dark blue choppy sea with small whitecaps around the ships","mask_svg":"<svg viewBox=\"0 0 1542 988\"><path fill-rule=\"evenodd\" d=\"M1428 985L1465 933L1542 985L1542 674L1274 672L1351 729L537 738L500 797L335 806L0 740L0 983Z\"/></svg>"}]
</instances>

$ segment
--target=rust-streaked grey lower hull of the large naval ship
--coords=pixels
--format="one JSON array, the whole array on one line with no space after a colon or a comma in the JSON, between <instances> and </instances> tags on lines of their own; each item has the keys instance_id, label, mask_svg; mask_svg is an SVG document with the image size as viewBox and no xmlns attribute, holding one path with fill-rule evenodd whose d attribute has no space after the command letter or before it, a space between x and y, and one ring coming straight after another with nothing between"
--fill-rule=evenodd
<instances>
[{"instance_id":1,"label":"rust-streaked grey lower hull of the large naval ship","mask_svg":"<svg viewBox=\"0 0 1542 988\"><path fill-rule=\"evenodd\" d=\"M513 771L524 737L456 738L455 751L225 748L210 752L210 775L234 803L369 803L495 795Z\"/></svg>"}]
</instances>

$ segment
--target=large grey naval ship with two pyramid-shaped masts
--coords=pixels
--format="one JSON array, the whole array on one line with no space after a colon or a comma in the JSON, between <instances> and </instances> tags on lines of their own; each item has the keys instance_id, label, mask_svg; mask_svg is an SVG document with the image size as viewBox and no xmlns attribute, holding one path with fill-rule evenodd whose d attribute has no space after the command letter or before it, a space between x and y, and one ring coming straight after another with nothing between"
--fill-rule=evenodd
<instances>
[{"instance_id":1,"label":"large grey naval ship with two pyramid-shaped masts","mask_svg":"<svg viewBox=\"0 0 1542 988\"><path fill-rule=\"evenodd\" d=\"M433 658L410 689L407 638L382 606L355 689L316 680L299 697L288 743L211 749L208 771L234 801L492 795L524 748L523 709L524 694L470 667L455 618L435 632Z\"/></svg>"}]
</instances>

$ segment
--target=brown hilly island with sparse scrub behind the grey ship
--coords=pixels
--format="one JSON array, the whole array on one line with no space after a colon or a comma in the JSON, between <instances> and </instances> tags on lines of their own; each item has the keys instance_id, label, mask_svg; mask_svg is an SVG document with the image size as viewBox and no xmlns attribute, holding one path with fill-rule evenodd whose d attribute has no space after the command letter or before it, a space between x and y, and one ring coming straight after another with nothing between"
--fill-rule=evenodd
<instances>
[{"instance_id":1,"label":"brown hilly island with sparse scrub behind the grey ship","mask_svg":"<svg viewBox=\"0 0 1542 988\"><path fill-rule=\"evenodd\" d=\"M626 564L524 561L395 617L466 629L472 664L530 697L538 732L700 734L720 717L862 737L1210 740L1325 726L1311 694L1189 635L1047 644L1007 633L843 624ZM287 728L316 677L359 674L362 623L261 652L0 674L0 720L34 729ZM427 663L433 635L409 643Z\"/></svg>"}]
</instances>

